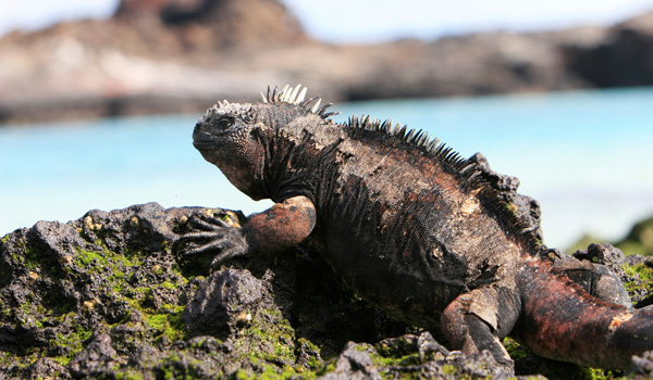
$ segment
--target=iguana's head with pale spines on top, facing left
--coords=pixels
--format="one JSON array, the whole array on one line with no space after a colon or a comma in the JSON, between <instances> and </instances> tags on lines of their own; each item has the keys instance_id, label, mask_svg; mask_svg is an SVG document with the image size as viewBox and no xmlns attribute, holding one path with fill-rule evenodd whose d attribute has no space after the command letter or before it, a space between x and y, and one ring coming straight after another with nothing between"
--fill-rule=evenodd
<instances>
[{"instance_id":1,"label":"iguana's head with pale spines on top, facing left","mask_svg":"<svg viewBox=\"0 0 653 380\"><path fill-rule=\"evenodd\" d=\"M322 118L334 113L324 111L318 97L304 100L306 88L288 87L261 93L256 104L218 102L197 122L193 144L208 162L218 166L226 178L254 200L269 198L261 188L263 167L272 161L274 149L268 144L274 129L309 113ZM309 107L309 104L316 102ZM273 143L273 142L272 142Z\"/></svg>"}]
</instances>

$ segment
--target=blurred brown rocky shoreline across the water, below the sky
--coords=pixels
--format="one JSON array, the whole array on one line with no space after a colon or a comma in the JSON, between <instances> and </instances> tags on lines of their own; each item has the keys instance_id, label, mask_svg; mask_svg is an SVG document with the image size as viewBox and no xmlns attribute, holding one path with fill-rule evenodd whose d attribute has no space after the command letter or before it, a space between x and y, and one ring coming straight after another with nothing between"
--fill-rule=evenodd
<instances>
[{"instance_id":1,"label":"blurred brown rocky shoreline across the water, below the sky","mask_svg":"<svg viewBox=\"0 0 653 380\"><path fill-rule=\"evenodd\" d=\"M331 101L650 85L651 14L614 28L330 46L275 0L123 0L0 39L0 123L204 111L303 83Z\"/></svg>"}]
</instances>

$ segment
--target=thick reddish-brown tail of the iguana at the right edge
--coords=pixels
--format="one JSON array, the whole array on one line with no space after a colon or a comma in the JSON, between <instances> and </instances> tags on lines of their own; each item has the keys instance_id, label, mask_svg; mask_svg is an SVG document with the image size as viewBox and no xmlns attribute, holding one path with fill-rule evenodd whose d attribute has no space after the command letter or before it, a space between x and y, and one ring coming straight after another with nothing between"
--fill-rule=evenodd
<instances>
[{"instance_id":1,"label":"thick reddish-brown tail of the iguana at the right edge","mask_svg":"<svg viewBox=\"0 0 653 380\"><path fill-rule=\"evenodd\" d=\"M518 279L522 315L513 333L535 354L626 369L632 355L653 350L653 306L634 309L600 301L547 269L533 263Z\"/></svg>"}]
</instances>

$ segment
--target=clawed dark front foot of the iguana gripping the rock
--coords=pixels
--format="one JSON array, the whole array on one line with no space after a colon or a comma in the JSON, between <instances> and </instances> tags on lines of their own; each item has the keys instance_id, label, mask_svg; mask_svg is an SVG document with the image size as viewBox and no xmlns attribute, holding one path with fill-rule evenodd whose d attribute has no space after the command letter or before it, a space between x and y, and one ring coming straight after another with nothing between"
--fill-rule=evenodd
<instances>
[{"instance_id":1,"label":"clawed dark front foot of the iguana gripping the rock","mask_svg":"<svg viewBox=\"0 0 653 380\"><path fill-rule=\"evenodd\" d=\"M189 257L217 251L219 254L210 265L210 269L213 270L229 258L247 254L248 244L241 228L232 227L227 221L215 217L190 219L188 225L197 231L188 232L174 242L173 250L181 256Z\"/></svg>"}]
</instances>

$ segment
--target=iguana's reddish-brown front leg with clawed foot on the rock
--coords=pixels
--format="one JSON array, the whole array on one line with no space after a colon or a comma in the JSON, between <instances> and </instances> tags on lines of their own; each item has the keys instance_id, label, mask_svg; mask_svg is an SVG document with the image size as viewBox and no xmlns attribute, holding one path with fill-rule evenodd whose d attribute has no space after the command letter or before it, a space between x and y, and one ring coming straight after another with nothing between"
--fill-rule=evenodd
<instances>
[{"instance_id":1,"label":"iguana's reddish-brown front leg with clawed foot on the rock","mask_svg":"<svg viewBox=\"0 0 653 380\"><path fill-rule=\"evenodd\" d=\"M254 252L279 252L297 245L316 226L316 208L308 198L298 195L256 214L242 228L230 227L218 218L193 219L189 223L201 232L186 233L176 244L204 241L202 245L182 253L188 256L218 251L211 263L211 268L215 268L231 257Z\"/></svg>"}]
</instances>

